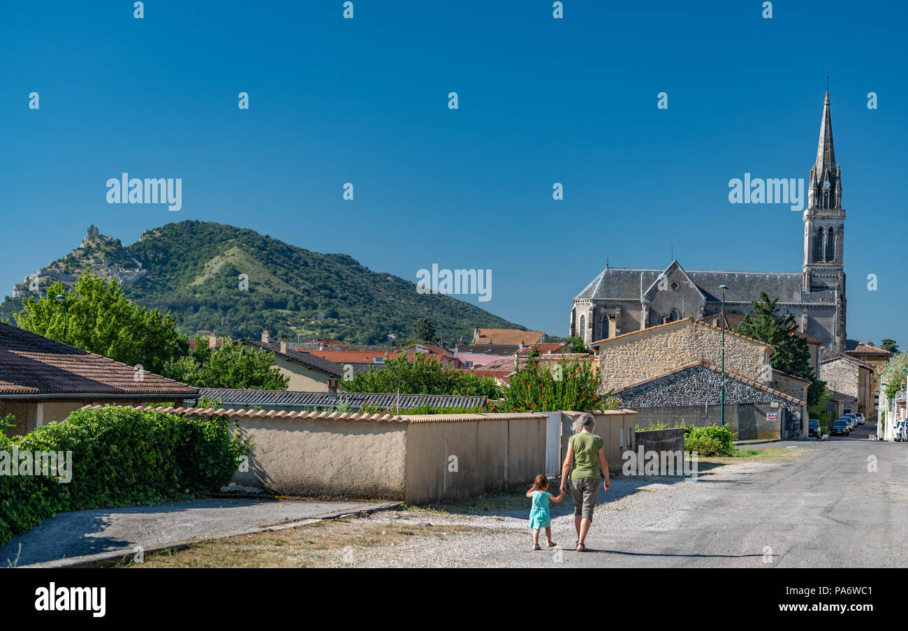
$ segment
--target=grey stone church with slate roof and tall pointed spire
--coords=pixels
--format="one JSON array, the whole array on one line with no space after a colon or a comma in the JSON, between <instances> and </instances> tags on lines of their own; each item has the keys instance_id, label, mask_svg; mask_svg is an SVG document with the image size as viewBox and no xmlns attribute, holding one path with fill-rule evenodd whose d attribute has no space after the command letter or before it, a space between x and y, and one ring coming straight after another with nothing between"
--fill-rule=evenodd
<instances>
[{"instance_id":1,"label":"grey stone church with slate roof and tall pointed spire","mask_svg":"<svg viewBox=\"0 0 908 631\"><path fill-rule=\"evenodd\" d=\"M798 330L838 352L845 349L845 274L842 180L835 163L829 92L823 104L816 162L810 169L804 209L804 264L801 271L685 270L672 261L665 269L606 269L574 299L570 335L587 345L633 330L680 320L701 320L722 311L753 313L751 301L765 291L781 315L792 314Z\"/></svg>"}]
</instances>

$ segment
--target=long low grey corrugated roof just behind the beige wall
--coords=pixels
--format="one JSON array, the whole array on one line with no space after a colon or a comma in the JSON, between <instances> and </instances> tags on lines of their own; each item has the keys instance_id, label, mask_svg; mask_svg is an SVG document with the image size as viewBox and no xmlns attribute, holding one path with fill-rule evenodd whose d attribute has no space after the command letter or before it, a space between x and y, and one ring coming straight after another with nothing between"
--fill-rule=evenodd
<instances>
[{"instance_id":1,"label":"long low grey corrugated roof just behind the beige wall","mask_svg":"<svg viewBox=\"0 0 908 631\"><path fill-rule=\"evenodd\" d=\"M212 389L202 388L199 395L208 399L222 399L222 405L230 408L281 406L286 408L318 409L335 408L344 399L350 409L362 405L390 409L397 405L396 393L373 392L303 392L294 390L253 390L253 389ZM474 408L485 407L486 397L466 397L434 394L401 394L400 409L430 405L433 408Z\"/></svg>"}]
</instances>

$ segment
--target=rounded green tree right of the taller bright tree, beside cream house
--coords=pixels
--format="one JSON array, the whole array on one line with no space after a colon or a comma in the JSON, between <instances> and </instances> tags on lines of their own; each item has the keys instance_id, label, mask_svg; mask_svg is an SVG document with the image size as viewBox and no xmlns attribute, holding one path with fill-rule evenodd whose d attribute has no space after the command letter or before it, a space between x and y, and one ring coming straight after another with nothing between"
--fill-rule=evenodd
<instances>
[{"instance_id":1,"label":"rounded green tree right of the taller bright tree, beside cream house","mask_svg":"<svg viewBox=\"0 0 908 631\"><path fill-rule=\"evenodd\" d=\"M216 349L207 338L196 338L189 355L168 361L163 375L196 388L287 389L290 378L272 368L274 353L224 340Z\"/></svg>"}]
</instances>

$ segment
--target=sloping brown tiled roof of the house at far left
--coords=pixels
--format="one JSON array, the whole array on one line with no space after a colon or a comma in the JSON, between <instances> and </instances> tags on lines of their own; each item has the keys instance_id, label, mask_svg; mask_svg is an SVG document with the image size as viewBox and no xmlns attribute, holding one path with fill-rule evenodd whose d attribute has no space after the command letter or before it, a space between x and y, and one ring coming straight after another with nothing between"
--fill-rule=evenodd
<instances>
[{"instance_id":1,"label":"sloping brown tiled roof of the house at far left","mask_svg":"<svg viewBox=\"0 0 908 631\"><path fill-rule=\"evenodd\" d=\"M0 398L102 395L104 398L192 396L197 388L0 323Z\"/></svg>"}]
</instances>

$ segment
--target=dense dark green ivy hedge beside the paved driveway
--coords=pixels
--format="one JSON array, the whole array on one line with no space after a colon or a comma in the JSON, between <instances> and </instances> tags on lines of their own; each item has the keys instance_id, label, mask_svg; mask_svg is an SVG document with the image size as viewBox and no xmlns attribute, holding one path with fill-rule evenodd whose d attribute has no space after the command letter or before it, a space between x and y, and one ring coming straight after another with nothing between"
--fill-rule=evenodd
<instances>
[{"instance_id":1,"label":"dense dark green ivy hedge beside the paved driveway","mask_svg":"<svg viewBox=\"0 0 908 631\"><path fill-rule=\"evenodd\" d=\"M22 437L0 433L0 451L14 447L71 451L72 480L0 475L0 544L58 512L206 496L252 451L227 419L114 407L78 410Z\"/></svg>"}]
</instances>

